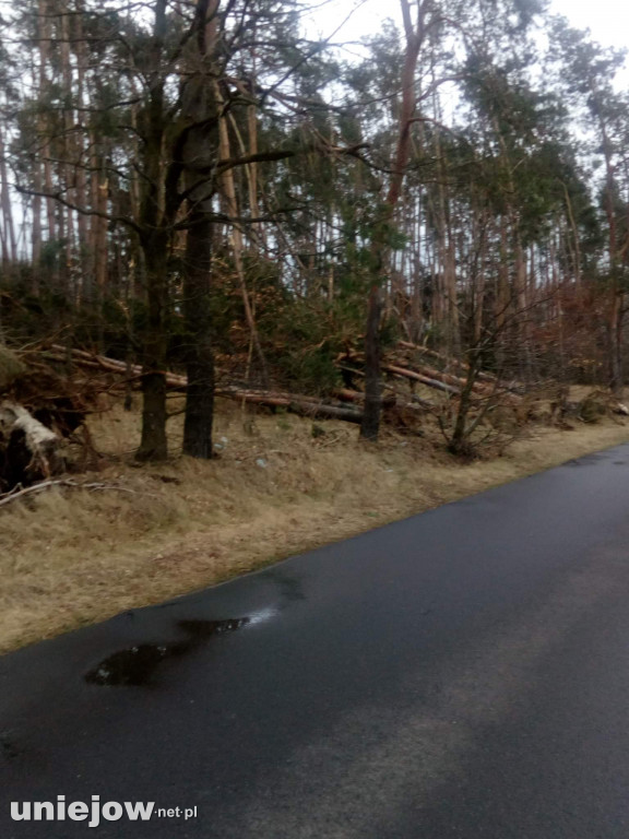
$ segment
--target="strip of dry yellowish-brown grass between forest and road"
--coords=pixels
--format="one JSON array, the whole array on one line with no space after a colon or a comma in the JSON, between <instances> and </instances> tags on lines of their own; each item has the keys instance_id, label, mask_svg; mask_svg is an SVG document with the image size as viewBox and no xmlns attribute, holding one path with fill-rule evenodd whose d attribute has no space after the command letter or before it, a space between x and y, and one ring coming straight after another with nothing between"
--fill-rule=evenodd
<instances>
[{"instance_id":1,"label":"strip of dry yellowish-brown grass between forest and road","mask_svg":"<svg viewBox=\"0 0 629 839\"><path fill-rule=\"evenodd\" d=\"M180 417L170 421L180 437ZM610 421L535 428L499 458L462 465L427 424L423 438L361 446L342 423L244 415L223 404L210 463L175 457L133 465L139 417L114 407L93 422L119 456L98 481L134 494L50 491L0 512L0 651L420 512L580 454L629 440Z\"/></svg>"}]
</instances>

